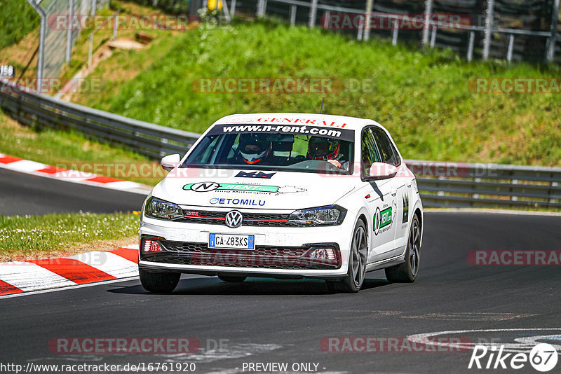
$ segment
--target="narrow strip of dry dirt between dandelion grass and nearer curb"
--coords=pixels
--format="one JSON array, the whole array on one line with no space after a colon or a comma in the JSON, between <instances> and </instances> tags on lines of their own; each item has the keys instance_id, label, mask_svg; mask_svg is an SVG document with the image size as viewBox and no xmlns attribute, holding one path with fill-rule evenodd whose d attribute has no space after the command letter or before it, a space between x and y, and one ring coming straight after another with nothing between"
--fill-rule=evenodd
<instances>
[{"instance_id":1,"label":"narrow strip of dry dirt between dandelion grass and nearer curb","mask_svg":"<svg viewBox=\"0 0 561 374\"><path fill-rule=\"evenodd\" d=\"M90 251L110 251L111 249L126 247L131 244L137 244L137 242L137 237L132 236L121 240L98 240L97 242L93 242L90 244L76 244L65 249L58 249L54 251L37 251L25 255L0 253L0 262L43 260L46 258L68 257L73 256L74 254L81 254Z\"/></svg>"}]
</instances>

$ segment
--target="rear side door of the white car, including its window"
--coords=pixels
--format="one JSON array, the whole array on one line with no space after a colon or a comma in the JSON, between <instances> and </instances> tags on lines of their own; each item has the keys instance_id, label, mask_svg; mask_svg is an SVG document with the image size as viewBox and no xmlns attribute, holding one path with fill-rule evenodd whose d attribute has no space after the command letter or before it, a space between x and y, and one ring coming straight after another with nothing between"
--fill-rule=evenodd
<instances>
[{"instance_id":1,"label":"rear side door of the white car, including its window","mask_svg":"<svg viewBox=\"0 0 561 374\"><path fill-rule=\"evenodd\" d=\"M393 223L393 248L389 253L389 256L393 257L403 254L405 244L407 244L412 177L409 175L410 173L408 172L407 166L403 163L403 160L401 160L401 156L388 137L386 131L380 127L374 127L372 128L372 134L374 135L374 140L380 151L382 162L386 162L386 164L391 164L398 168L396 176L388 180L388 183L391 183L391 194L395 193L393 197L396 202L396 218Z\"/></svg>"}]
</instances>

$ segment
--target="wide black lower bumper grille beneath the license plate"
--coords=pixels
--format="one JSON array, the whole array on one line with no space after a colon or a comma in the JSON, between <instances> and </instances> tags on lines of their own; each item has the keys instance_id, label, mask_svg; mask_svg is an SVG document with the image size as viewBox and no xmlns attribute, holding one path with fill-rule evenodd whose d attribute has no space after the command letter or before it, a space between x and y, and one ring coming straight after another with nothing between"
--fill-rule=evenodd
<instances>
[{"instance_id":1,"label":"wide black lower bumper grille beneath the license plate","mask_svg":"<svg viewBox=\"0 0 561 374\"><path fill-rule=\"evenodd\" d=\"M327 260L308 258L312 247L256 247L255 250L208 249L206 243L161 240L165 253L142 255L142 260L176 265L230 266L285 270L327 270L339 268ZM339 256L340 258L340 256Z\"/></svg>"}]
</instances>

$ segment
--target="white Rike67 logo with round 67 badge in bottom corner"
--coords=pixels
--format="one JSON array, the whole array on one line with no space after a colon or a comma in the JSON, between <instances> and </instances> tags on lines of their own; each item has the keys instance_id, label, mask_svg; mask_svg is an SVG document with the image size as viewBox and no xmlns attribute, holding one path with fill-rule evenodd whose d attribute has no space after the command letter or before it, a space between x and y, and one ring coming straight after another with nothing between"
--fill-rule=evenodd
<instances>
[{"instance_id":1,"label":"white Rike67 logo with round 67 badge in bottom corner","mask_svg":"<svg viewBox=\"0 0 561 374\"><path fill-rule=\"evenodd\" d=\"M546 373L557 365L557 350L547 343L539 343L529 353L505 353L504 348L504 345L475 345L468 368L518 370L529 363L534 369Z\"/></svg>"}]
</instances>

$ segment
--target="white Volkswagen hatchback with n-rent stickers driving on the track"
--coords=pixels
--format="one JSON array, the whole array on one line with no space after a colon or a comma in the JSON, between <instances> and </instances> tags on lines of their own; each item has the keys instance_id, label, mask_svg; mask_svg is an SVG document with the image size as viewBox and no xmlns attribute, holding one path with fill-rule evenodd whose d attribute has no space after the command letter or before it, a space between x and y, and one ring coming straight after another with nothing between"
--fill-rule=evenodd
<instances>
[{"instance_id":1,"label":"white Volkswagen hatchback with n-rent stickers driving on the track","mask_svg":"<svg viewBox=\"0 0 561 374\"><path fill-rule=\"evenodd\" d=\"M356 292L365 272L390 282L419 271L417 181L374 120L259 113L217 120L142 209L142 286L171 292L181 273L325 279Z\"/></svg>"}]
</instances>

